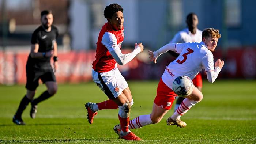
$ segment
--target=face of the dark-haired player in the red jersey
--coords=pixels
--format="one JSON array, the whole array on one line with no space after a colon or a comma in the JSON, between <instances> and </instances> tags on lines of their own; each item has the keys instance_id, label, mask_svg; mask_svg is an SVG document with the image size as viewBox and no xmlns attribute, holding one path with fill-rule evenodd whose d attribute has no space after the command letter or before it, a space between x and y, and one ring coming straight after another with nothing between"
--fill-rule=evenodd
<instances>
[{"instance_id":1,"label":"face of the dark-haired player in the red jersey","mask_svg":"<svg viewBox=\"0 0 256 144\"><path fill-rule=\"evenodd\" d=\"M118 11L114 13L111 19L108 18L108 21L110 22L110 24L113 26L115 30L121 30L124 24L123 12Z\"/></svg>"}]
</instances>

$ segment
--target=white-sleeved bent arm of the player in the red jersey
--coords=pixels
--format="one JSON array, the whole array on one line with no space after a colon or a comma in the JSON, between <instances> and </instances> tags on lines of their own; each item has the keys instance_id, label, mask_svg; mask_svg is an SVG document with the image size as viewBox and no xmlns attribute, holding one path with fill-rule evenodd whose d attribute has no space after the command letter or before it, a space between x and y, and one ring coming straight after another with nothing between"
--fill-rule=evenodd
<instances>
[{"instance_id":1,"label":"white-sleeved bent arm of the player in the red jersey","mask_svg":"<svg viewBox=\"0 0 256 144\"><path fill-rule=\"evenodd\" d=\"M102 37L101 43L106 46L112 57L119 65L125 65L131 61L138 53L143 52L143 45L139 43L135 44L135 49L128 54L123 54L117 45L117 39L112 33L105 33Z\"/></svg>"}]
</instances>

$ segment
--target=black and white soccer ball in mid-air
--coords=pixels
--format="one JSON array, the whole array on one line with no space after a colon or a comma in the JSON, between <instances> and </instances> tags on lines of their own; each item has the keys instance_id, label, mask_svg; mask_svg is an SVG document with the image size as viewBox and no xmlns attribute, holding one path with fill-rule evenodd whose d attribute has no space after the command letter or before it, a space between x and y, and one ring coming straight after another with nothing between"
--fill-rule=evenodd
<instances>
[{"instance_id":1,"label":"black and white soccer ball in mid-air","mask_svg":"<svg viewBox=\"0 0 256 144\"><path fill-rule=\"evenodd\" d=\"M173 91L181 97L190 95L193 91L193 82L188 76L179 76L173 81Z\"/></svg>"}]
</instances>

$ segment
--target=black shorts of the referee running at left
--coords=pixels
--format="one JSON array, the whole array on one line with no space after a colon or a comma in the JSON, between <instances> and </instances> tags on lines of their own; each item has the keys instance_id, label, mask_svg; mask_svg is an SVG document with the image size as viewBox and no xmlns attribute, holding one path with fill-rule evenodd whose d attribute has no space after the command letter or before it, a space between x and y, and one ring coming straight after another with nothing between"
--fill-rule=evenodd
<instances>
[{"instance_id":1,"label":"black shorts of the referee running at left","mask_svg":"<svg viewBox=\"0 0 256 144\"><path fill-rule=\"evenodd\" d=\"M52 68L37 69L26 66L26 76L26 88L30 91L36 90L39 85L39 79L41 79L43 83L49 81L56 82L56 77Z\"/></svg>"}]
</instances>

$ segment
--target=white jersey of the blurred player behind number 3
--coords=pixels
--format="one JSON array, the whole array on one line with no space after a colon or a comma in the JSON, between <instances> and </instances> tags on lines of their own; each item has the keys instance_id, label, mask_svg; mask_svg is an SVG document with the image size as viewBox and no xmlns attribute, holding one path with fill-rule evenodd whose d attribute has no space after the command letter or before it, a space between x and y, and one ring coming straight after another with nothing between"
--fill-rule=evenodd
<instances>
[{"instance_id":1,"label":"white jersey of the blurred player behind number 3","mask_svg":"<svg viewBox=\"0 0 256 144\"><path fill-rule=\"evenodd\" d=\"M174 35L173 39L169 43L185 43L185 42L201 42L202 41L202 31L196 29L196 33L192 34L188 28L179 31Z\"/></svg>"}]
</instances>

